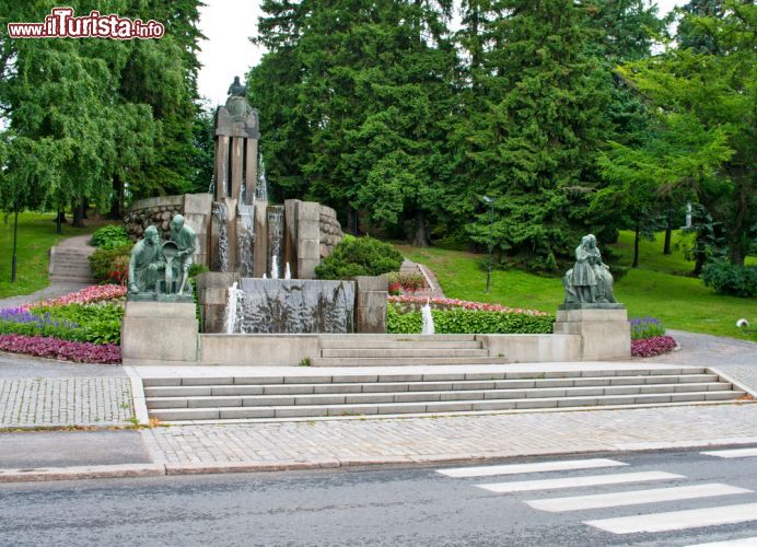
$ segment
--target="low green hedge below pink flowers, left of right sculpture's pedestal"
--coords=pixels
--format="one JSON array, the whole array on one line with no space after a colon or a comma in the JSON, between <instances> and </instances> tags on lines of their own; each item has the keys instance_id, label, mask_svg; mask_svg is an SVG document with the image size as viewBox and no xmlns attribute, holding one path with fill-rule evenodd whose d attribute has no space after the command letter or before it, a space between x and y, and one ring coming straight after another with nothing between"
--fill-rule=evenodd
<instances>
[{"instance_id":1,"label":"low green hedge below pink flowers, left of right sculpture's pedestal","mask_svg":"<svg viewBox=\"0 0 757 547\"><path fill-rule=\"evenodd\" d=\"M551 334L555 316L523 313L486 312L480 310L432 310L436 334ZM420 334L420 312L400 313L396 304L386 310L386 331Z\"/></svg>"}]
</instances>

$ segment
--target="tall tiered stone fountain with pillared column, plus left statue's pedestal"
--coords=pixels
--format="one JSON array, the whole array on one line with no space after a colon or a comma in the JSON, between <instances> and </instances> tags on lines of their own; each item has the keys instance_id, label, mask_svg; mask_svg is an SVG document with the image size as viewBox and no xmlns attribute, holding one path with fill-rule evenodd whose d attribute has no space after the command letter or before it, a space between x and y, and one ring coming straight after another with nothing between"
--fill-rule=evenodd
<instances>
[{"instance_id":1,"label":"tall tiered stone fountain with pillared column, plus left statue's pedestal","mask_svg":"<svg viewBox=\"0 0 757 547\"><path fill-rule=\"evenodd\" d=\"M152 278L161 277L155 270L165 274L166 261L178 264L178 270L168 268L168 289L161 290L158 281L156 289L130 292L123 329L125 364L196 364L203 353L202 337L211 345L218 335L257 336L244 342L258 348L248 358L255 361L266 354L260 345L276 340L270 336L385 331L385 277L314 279L315 267L342 238L336 211L298 199L269 203L259 117L246 91L235 78L216 112L210 191L138 201L125 219L133 240L144 236L140 248L160 245L155 242L161 233L170 235L168 228L173 234L170 219L176 214L197 234L189 252L180 243L177 248L161 246L165 253L160 261L142 276L154 283ZM199 321L194 302L187 302L191 296L180 289L187 255L210 269L196 278Z\"/></svg>"}]
</instances>

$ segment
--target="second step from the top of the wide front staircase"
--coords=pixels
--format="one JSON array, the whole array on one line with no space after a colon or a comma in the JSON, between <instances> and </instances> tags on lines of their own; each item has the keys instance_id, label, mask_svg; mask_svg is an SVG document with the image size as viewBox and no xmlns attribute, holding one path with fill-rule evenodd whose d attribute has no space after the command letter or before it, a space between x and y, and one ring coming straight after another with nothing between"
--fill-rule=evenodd
<instances>
[{"instance_id":1,"label":"second step from the top of the wide front staircase","mask_svg":"<svg viewBox=\"0 0 757 547\"><path fill-rule=\"evenodd\" d=\"M349 379L354 379L349 376ZM212 379L210 379L212 380ZM381 382L375 376L368 382L343 383L235 383L206 385L145 386L148 397L193 397L211 395L291 395L328 393L397 393L420 391L524 389L543 387L592 387L624 385L689 385L718 382L717 374L643 375L612 377L524 379L524 380L449 380L420 382ZM251 379L253 380L253 379ZM723 383L724 385L727 385Z\"/></svg>"}]
</instances>

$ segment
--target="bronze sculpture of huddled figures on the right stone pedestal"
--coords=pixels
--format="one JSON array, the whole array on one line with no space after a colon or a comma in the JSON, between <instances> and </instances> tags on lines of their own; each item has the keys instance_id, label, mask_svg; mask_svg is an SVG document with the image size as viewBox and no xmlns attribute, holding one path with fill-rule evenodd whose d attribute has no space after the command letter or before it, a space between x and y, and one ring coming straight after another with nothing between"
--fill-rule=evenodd
<instances>
[{"instance_id":1,"label":"bronze sculpture of huddled figures on the right stone pedestal","mask_svg":"<svg viewBox=\"0 0 757 547\"><path fill-rule=\"evenodd\" d=\"M584 235L575 247L575 265L562 278L564 304L616 304L613 276L602 261L593 234Z\"/></svg>"}]
</instances>

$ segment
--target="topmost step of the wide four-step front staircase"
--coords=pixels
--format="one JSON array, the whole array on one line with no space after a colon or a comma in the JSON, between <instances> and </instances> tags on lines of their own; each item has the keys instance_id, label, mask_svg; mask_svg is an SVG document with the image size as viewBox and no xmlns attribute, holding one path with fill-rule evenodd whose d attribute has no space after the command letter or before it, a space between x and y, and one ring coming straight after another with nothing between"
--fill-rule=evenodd
<instances>
[{"instance_id":1,"label":"topmost step of the wide four-step front staircase","mask_svg":"<svg viewBox=\"0 0 757 547\"><path fill-rule=\"evenodd\" d=\"M684 366L676 369L609 369L609 370L536 370L536 371L503 371L501 366L492 368L491 371L467 372L441 371L441 372L409 372L394 373L381 370L360 373L331 374L329 371L318 371L317 369L307 371L306 374L287 376L196 376L196 377L148 377L142 383L145 387L154 386L225 386L225 385L277 385L277 384L348 384L348 383L384 383L400 382L464 382L464 381L489 381L489 380L524 380L524 381L545 381L545 380L570 380L574 385L586 380L597 380L602 382L630 382L636 383L637 379L643 377L644 383L673 383L680 379L685 382L687 377L695 376L696 382L709 382L718 379L717 374L708 372L701 366ZM598 384L602 385L602 384ZM519 386L522 387L522 386Z\"/></svg>"}]
</instances>

